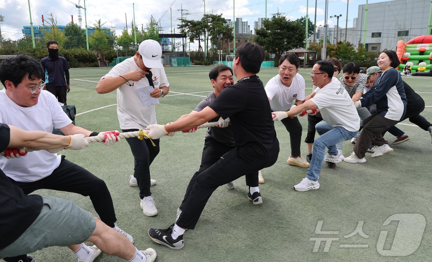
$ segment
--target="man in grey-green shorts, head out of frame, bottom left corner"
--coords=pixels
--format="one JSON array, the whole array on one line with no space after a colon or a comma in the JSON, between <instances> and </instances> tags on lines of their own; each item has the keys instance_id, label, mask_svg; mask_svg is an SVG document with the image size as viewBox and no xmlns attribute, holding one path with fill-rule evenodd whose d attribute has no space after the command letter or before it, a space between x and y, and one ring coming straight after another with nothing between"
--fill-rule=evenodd
<instances>
[{"instance_id":1,"label":"man in grey-green shorts, head out of frame, bottom left corner","mask_svg":"<svg viewBox=\"0 0 432 262\"><path fill-rule=\"evenodd\" d=\"M87 145L89 143L82 134L57 136L0 123L0 152L21 147L79 150ZM1 169L0 214L0 231L4 236L0 237L0 259L14 256L21 262L35 262L32 256L21 254L52 246L69 247L79 262L92 262L102 251L132 262L153 262L156 259L155 250L137 250L126 237L110 230L108 225L72 201L24 194ZM84 241L94 242L95 246L76 244Z\"/></svg>"}]
</instances>

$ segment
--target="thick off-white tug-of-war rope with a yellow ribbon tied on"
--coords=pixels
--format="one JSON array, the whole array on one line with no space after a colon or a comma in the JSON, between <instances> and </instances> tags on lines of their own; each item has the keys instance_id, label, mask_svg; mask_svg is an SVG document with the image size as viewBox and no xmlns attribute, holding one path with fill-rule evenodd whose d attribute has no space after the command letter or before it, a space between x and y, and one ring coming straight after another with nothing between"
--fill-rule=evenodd
<instances>
[{"instance_id":1,"label":"thick off-white tug-of-war rope with a yellow ribbon tied on","mask_svg":"<svg viewBox=\"0 0 432 262\"><path fill-rule=\"evenodd\" d=\"M311 109L311 110L307 110L304 111L302 113L299 114L300 117L303 117L307 114L317 114L319 113L318 109ZM203 123L202 125L197 126L198 128L207 128L207 127L214 127L214 126L218 126L218 122L208 122L208 123ZM133 131L133 132L124 132L124 133L120 133L118 135L118 137L120 138L131 138L131 137L137 137L138 139L144 139L144 138L149 138L149 136L146 134L145 131L143 131L142 129L140 129L139 131ZM87 140L87 142L91 143L91 142L102 142L105 140L104 135L99 135L99 136L89 136L85 138ZM153 146L156 146L155 143L153 143L152 139L150 139L150 141L152 142ZM6 149L7 150L7 149ZM17 151L16 153L25 155L27 152L32 152L32 151L38 151L38 150L43 150L43 149L30 149L30 148L20 148L19 152ZM3 157L5 155L5 151L0 153L0 157Z\"/></svg>"}]
</instances>

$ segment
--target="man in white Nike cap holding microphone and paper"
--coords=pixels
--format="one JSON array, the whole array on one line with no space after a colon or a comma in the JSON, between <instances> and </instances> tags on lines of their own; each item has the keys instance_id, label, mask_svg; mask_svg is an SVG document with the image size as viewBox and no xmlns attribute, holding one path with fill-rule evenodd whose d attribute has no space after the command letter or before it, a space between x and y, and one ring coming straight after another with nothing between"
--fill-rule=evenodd
<instances>
[{"instance_id":1,"label":"man in white Nike cap holding microphone and paper","mask_svg":"<svg viewBox=\"0 0 432 262\"><path fill-rule=\"evenodd\" d=\"M144 130L157 123L155 103L159 104L158 99L169 91L165 70L160 62L161 56L159 43L145 40L140 43L136 55L115 65L96 86L99 94L117 89L117 116L123 132ZM141 89L146 87L147 91L143 92ZM144 98L141 99L142 96ZM156 216L158 210L150 192L150 185L155 185L156 180L150 179L150 164L159 154L159 139L150 141L134 137L127 138L126 141L135 160L129 185L140 188L140 207L143 213L146 216Z\"/></svg>"}]
</instances>

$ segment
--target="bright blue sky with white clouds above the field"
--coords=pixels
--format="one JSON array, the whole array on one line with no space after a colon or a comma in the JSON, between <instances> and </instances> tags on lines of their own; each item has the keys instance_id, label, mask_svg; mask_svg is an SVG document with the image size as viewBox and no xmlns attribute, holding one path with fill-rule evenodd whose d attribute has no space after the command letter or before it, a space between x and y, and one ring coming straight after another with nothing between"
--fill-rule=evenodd
<instances>
[{"instance_id":1,"label":"bright blue sky with white clouds above the field","mask_svg":"<svg viewBox=\"0 0 432 262\"><path fill-rule=\"evenodd\" d=\"M70 0L78 3L78 0ZM368 3L383 2L384 0L369 0ZM136 0L87 0L86 13L87 25L92 26L95 20L101 18L106 22L106 27L113 27L116 34L121 34L125 27L126 19L130 30L130 22L133 20L133 3L135 2L135 20L139 27L143 24L144 28L150 21L152 15L156 21L161 21L164 33L171 33L172 28L177 28L178 20L181 17L179 9L184 9L187 19L199 20L204 13L203 0L150 0L151 4ZM53 4L54 3L54 4ZM156 4L157 3L157 4ZM235 17L241 17L249 22L251 29L253 22L259 17L265 17L265 0L206 0L205 7L207 13L222 14L224 18L233 18L233 5L235 4ZM317 25L324 25L324 0L317 0ZM365 4L365 0L349 0L348 27L353 26L353 18L358 16L358 6ZM84 0L80 2L84 6ZM330 18L330 15L342 15L339 18L339 26L344 28L346 22L347 0L329 0L328 24L330 27L336 25L337 18ZM172 8L172 16L170 14ZM297 19L306 15L307 0L267 0L267 17L280 12L287 18ZM314 21L315 1L309 0L309 19ZM52 13L57 18L57 25L66 25L71 21L78 24L78 9L74 4L67 0L43 1L30 0L33 25L41 25L41 16L48 17ZM83 28L85 25L84 10L81 10L83 17ZM0 0L0 14L5 17L5 21L0 24L2 35L5 39L17 40L22 38L21 29L24 25L30 25L29 2L28 0ZM126 15L125 15L126 14ZM163 16L162 16L163 15ZM171 19L172 17L172 19ZM178 29L176 29L178 32Z\"/></svg>"}]
</instances>

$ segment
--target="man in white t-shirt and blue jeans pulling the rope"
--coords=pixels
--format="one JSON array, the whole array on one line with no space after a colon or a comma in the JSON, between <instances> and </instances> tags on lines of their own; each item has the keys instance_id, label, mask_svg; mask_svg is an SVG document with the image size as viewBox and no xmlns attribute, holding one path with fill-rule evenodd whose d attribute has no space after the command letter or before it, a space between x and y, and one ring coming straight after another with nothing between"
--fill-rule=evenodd
<instances>
[{"instance_id":1,"label":"man in white t-shirt and blue jeans pulling the rope","mask_svg":"<svg viewBox=\"0 0 432 262\"><path fill-rule=\"evenodd\" d=\"M327 129L322 126L320 129L317 128L317 131L322 133L314 141L311 166L306 177L294 186L297 191L318 189L320 187L318 175L324 161L325 148L328 148L330 157L339 157L334 156L337 153L336 144L353 138L360 128L360 118L356 107L339 80L331 77L333 73L334 68L330 62L324 60L316 62L311 72L312 83L318 86L314 96L288 112L273 112L274 120L282 120L318 107L325 122L317 125L327 125Z\"/></svg>"}]
</instances>

